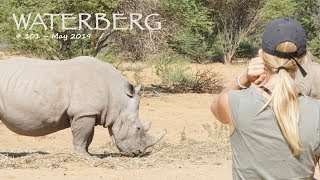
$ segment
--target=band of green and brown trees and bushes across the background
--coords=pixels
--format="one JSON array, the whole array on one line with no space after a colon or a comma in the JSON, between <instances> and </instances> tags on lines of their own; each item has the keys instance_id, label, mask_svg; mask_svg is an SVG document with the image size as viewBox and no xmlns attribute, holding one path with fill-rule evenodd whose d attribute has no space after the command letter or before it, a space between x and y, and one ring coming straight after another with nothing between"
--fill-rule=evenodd
<instances>
[{"instance_id":1,"label":"band of green and brown trees and bushes across the background","mask_svg":"<svg viewBox=\"0 0 320 180\"><path fill-rule=\"evenodd\" d=\"M1 0L0 43L6 50L46 59L79 55L116 60L148 61L176 54L193 62L232 63L251 58L260 47L263 27L271 19L289 16L299 20L308 33L310 51L320 57L320 0ZM34 28L20 33L42 35L88 33L90 39L16 39L12 13L159 13L160 31L75 30ZM95 19L91 19L93 23ZM171 56L170 57L175 57ZM180 58L179 58L180 59Z\"/></svg>"}]
</instances>

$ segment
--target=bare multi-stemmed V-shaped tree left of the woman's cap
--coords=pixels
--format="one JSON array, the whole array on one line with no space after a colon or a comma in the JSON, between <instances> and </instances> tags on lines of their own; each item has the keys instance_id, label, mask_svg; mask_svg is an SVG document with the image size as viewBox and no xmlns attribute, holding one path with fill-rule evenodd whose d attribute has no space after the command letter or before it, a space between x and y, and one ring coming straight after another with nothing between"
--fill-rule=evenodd
<instances>
[{"instance_id":1,"label":"bare multi-stemmed V-shaped tree left of the woman's cap","mask_svg":"<svg viewBox=\"0 0 320 180\"><path fill-rule=\"evenodd\" d=\"M258 20L260 0L207 0L223 40L224 62L231 63L237 48Z\"/></svg>"}]
</instances>

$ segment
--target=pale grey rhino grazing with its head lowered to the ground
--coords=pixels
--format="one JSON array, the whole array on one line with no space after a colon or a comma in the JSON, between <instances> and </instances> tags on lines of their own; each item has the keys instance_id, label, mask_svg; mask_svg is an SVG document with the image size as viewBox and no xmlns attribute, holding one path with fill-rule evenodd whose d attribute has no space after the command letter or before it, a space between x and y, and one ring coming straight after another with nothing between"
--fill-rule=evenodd
<instances>
[{"instance_id":1,"label":"pale grey rhino grazing with its head lowered to the ground","mask_svg":"<svg viewBox=\"0 0 320 180\"><path fill-rule=\"evenodd\" d=\"M9 58L0 61L0 119L25 136L71 127L75 152L88 156L94 127L101 125L108 128L120 154L138 156L166 134L165 129L147 134L151 124L139 119L140 88L93 57Z\"/></svg>"}]
</instances>

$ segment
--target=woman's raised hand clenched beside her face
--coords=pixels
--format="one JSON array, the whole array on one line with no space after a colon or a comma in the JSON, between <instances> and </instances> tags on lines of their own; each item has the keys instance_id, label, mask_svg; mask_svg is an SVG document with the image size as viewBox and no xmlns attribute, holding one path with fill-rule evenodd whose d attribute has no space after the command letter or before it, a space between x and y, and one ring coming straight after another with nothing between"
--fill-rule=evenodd
<instances>
[{"instance_id":1,"label":"woman's raised hand clenched beside her face","mask_svg":"<svg viewBox=\"0 0 320 180\"><path fill-rule=\"evenodd\" d=\"M256 57L250 60L240 82L245 85L250 85L251 83L259 85L266 79L266 76L266 67L263 59L261 57Z\"/></svg>"}]
</instances>

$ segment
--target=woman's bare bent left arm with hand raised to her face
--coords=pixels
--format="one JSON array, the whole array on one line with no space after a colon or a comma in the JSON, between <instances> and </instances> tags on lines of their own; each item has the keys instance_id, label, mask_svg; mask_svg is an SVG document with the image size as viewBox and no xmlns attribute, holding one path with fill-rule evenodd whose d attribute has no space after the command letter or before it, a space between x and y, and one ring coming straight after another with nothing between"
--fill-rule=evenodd
<instances>
[{"instance_id":1,"label":"woman's bare bent left arm with hand raised to her face","mask_svg":"<svg viewBox=\"0 0 320 180\"><path fill-rule=\"evenodd\" d=\"M249 87L251 83L260 84L266 78L266 70L262 58L257 57L250 61L248 67L242 73L239 82L242 86ZM224 88L222 92L214 99L211 104L211 111L213 115L223 124L232 125L231 113L228 103L228 92L230 90L242 89L237 85L235 80L231 85Z\"/></svg>"}]
</instances>

